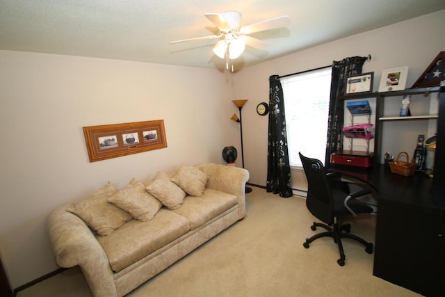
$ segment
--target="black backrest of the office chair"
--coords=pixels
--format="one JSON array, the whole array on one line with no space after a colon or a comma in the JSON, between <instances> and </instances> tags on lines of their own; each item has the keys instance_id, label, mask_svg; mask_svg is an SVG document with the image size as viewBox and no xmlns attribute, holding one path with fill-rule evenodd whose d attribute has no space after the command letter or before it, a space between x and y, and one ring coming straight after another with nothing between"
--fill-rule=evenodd
<instances>
[{"instance_id":1,"label":"black backrest of the office chair","mask_svg":"<svg viewBox=\"0 0 445 297\"><path fill-rule=\"evenodd\" d=\"M300 159L307 178L307 209L319 220L331 225L334 223L334 200L326 177L326 170L320 160L303 156Z\"/></svg>"}]
</instances>

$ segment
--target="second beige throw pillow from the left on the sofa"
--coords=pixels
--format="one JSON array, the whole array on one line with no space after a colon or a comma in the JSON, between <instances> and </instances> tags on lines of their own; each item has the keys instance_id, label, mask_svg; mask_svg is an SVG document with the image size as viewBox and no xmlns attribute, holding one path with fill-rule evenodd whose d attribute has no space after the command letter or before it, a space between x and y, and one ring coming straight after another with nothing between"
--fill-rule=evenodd
<instances>
[{"instance_id":1,"label":"second beige throw pillow from the left on the sofa","mask_svg":"<svg viewBox=\"0 0 445 297\"><path fill-rule=\"evenodd\" d=\"M162 207L161 202L150 195L145 190L145 184L138 182L137 179L131 179L130 183L120 189L108 202L128 211L133 218L148 222Z\"/></svg>"}]
</instances>

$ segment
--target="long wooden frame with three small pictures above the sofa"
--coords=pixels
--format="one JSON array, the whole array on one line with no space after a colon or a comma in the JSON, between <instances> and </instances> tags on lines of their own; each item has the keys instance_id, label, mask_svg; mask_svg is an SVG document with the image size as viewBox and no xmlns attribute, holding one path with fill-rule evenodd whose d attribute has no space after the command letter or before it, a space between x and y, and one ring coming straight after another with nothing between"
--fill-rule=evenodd
<instances>
[{"instance_id":1,"label":"long wooden frame with three small pictures above the sofa","mask_svg":"<svg viewBox=\"0 0 445 297\"><path fill-rule=\"evenodd\" d=\"M90 162L167 147L163 120L83 127Z\"/></svg>"}]
</instances>

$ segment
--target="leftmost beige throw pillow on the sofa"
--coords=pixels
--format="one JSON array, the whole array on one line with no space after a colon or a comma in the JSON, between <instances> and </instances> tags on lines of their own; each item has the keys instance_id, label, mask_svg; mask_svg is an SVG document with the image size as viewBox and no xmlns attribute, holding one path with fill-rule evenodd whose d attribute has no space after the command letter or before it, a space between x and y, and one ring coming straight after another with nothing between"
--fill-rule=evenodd
<instances>
[{"instance_id":1,"label":"leftmost beige throw pillow on the sofa","mask_svg":"<svg viewBox=\"0 0 445 297\"><path fill-rule=\"evenodd\" d=\"M87 199L71 204L67 211L79 216L88 226L99 235L111 234L125 222L131 220L131 215L108 202L116 193L116 188L108 182Z\"/></svg>"}]
</instances>

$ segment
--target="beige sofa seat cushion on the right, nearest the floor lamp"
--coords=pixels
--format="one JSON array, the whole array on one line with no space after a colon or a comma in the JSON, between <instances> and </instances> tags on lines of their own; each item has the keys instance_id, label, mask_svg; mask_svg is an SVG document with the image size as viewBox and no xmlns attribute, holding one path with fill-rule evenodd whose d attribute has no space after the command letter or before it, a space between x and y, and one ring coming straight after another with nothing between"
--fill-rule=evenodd
<instances>
[{"instance_id":1,"label":"beige sofa seat cushion on the right, nearest the floor lamp","mask_svg":"<svg viewBox=\"0 0 445 297\"><path fill-rule=\"evenodd\" d=\"M235 195L206 188L200 197L187 196L182 207L172 211L187 218L194 230L238 203Z\"/></svg>"}]
</instances>

